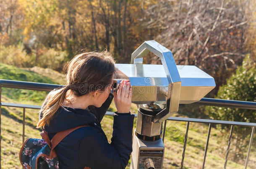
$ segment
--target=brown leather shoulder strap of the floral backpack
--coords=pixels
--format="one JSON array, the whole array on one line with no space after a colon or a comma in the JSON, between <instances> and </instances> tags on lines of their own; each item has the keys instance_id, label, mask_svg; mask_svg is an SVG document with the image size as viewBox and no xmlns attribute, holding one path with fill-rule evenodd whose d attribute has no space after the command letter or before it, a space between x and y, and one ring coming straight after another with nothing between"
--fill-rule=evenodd
<instances>
[{"instance_id":1,"label":"brown leather shoulder strap of the floral backpack","mask_svg":"<svg viewBox=\"0 0 256 169\"><path fill-rule=\"evenodd\" d=\"M62 141L66 136L68 136L68 134L70 134L71 132L73 132L77 129L80 129L81 127L88 127L88 126L89 125L77 126L72 129L57 132L57 134L55 134L55 136L53 136L52 141L50 141L47 131L42 131L40 133L42 138L47 142L48 146L51 148L50 159L57 156L54 148L60 143L60 141Z\"/></svg>"}]
</instances>

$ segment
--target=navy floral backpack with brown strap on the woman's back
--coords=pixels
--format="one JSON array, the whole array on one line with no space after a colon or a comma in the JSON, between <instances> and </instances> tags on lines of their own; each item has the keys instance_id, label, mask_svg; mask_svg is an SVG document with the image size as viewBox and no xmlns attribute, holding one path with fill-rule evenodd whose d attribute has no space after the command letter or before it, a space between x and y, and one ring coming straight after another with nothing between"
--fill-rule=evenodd
<instances>
[{"instance_id":1,"label":"navy floral backpack with brown strap on the woman's back","mask_svg":"<svg viewBox=\"0 0 256 169\"><path fill-rule=\"evenodd\" d=\"M59 161L54 148L62 139L68 136L68 134L81 127L86 126L78 126L60 131L55 134L51 141L46 131L40 133L42 139L26 139L20 151L22 167L24 169L58 169Z\"/></svg>"}]
</instances>

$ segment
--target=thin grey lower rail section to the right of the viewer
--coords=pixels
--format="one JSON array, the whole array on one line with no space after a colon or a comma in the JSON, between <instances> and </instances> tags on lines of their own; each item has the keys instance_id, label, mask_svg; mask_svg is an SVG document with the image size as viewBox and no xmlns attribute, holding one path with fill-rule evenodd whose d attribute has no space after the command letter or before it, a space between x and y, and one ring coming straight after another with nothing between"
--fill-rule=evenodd
<instances>
[{"instance_id":1,"label":"thin grey lower rail section to the right of the viewer","mask_svg":"<svg viewBox=\"0 0 256 169\"><path fill-rule=\"evenodd\" d=\"M185 117L169 117L167 120L189 121L189 122L195 122L195 123L227 124L227 125L238 125L238 126L248 126L248 127L256 126L256 123L247 123L247 122L239 122L239 121L224 121L224 120L209 120L209 119L193 119L193 118L185 118Z\"/></svg>"}]
</instances>

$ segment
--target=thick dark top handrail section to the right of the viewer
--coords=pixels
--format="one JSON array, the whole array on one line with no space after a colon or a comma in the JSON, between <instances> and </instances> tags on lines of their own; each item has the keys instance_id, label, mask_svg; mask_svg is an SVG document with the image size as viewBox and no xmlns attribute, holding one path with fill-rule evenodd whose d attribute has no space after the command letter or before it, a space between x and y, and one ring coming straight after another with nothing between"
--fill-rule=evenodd
<instances>
[{"instance_id":1,"label":"thick dark top handrail section to the right of the viewer","mask_svg":"<svg viewBox=\"0 0 256 169\"><path fill-rule=\"evenodd\" d=\"M252 102L252 101L236 101L236 100L224 100L224 99L217 99L217 98L202 98L200 101L197 101L194 104L256 110L256 102Z\"/></svg>"}]
</instances>

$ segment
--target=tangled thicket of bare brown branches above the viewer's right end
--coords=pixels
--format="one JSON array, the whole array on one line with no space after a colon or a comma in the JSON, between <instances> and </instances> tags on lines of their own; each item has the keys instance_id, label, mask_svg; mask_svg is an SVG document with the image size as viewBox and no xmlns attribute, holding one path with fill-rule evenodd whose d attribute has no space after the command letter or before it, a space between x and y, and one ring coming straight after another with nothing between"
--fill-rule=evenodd
<instances>
[{"instance_id":1,"label":"tangled thicket of bare brown branches above the viewer's right end","mask_svg":"<svg viewBox=\"0 0 256 169\"><path fill-rule=\"evenodd\" d=\"M248 53L250 4L251 0L163 0L145 10L145 27L172 51L177 64L195 65L214 76L216 94Z\"/></svg>"}]
</instances>

